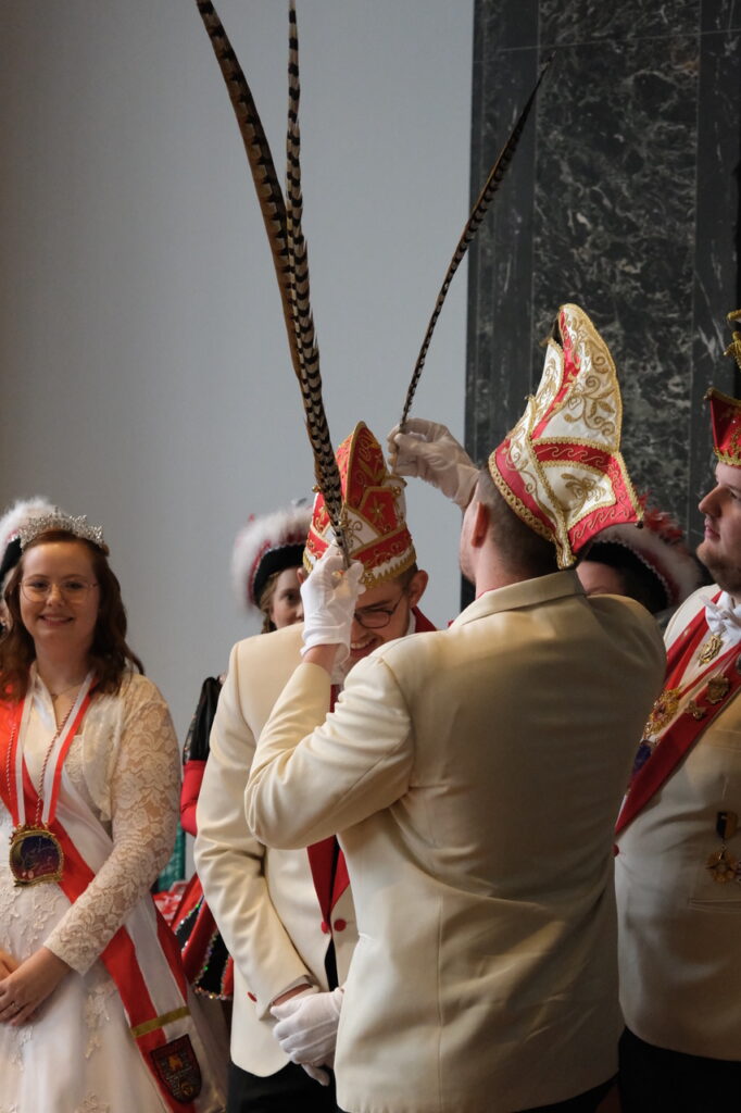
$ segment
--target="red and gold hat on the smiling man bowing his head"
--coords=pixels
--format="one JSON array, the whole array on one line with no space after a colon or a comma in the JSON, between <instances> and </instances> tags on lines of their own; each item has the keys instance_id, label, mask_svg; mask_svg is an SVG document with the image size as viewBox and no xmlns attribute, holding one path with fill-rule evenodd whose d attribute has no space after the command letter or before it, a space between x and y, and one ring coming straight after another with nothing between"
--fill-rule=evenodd
<instances>
[{"instance_id":1,"label":"red and gold hat on the smiling man bowing his head","mask_svg":"<svg viewBox=\"0 0 741 1113\"><path fill-rule=\"evenodd\" d=\"M401 575L416 560L406 526L403 479L392 474L377 440L363 422L337 449L343 491L342 522L349 554L365 569L362 583L373 588ZM324 495L314 502L304 564L308 571L334 541Z\"/></svg>"}]
</instances>

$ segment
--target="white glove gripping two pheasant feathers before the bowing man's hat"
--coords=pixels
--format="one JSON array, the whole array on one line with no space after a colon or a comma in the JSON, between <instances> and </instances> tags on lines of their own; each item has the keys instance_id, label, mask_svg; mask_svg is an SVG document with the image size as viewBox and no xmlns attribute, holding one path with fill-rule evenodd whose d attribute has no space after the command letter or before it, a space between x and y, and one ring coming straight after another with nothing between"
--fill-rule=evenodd
<instances>
[{"instance_id":1,"label":"white glove gripping two pheasant feathers before the bowing man's hat","mask_svg":"<svg viewBox=\"0 0 741 1113\"><path fill-rule=\"evenodd\" d=\"M338 646L335 668L349 657L350 629L360 585L363 564L355 560L345 569L339 546L329 545L302 584L304 601L304 648Z\"/></svg>"}]
</instances>

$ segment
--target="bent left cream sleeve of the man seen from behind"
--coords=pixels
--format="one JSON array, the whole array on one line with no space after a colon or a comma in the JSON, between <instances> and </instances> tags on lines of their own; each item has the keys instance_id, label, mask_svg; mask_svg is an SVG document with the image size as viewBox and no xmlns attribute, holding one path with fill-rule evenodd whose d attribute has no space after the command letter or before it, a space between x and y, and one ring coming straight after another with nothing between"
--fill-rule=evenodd
<instances>
[{"instance_id":1,"label":"bent left cream sleeve of the man seen from behind","mask_svg":"<svg viewBox=\"0 0 741 1113\"><path fill-rule=\"evenodd\" d=\"M308 846L389 807L409 786L412 721L383 658L359 661L326 715L329 674L302 663L259 738L247 823L268 846Z\"/></svg>"}]
</instances>

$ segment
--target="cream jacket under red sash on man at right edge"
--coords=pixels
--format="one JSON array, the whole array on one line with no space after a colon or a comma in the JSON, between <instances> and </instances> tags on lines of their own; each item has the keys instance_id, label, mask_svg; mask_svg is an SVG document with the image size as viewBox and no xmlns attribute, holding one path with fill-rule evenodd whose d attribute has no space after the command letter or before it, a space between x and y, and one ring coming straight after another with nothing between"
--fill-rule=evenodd
<instances>
[{"instance_id":1,"label":"cream jacket under red sash on man at right edge","mask_svg":"<svg viewBox=\"0 0 741 1113\"><path fill-rule=\"evenodd\" d=\"M719 590L701 588L683 603L668 646ZM680 713L694 695L684 693ZM708 869L722 810L741 820L738 691L622 831L615 883L628 1026L659 1047L741 1060L741 884L719 885ZM728 848L741 859L741 823Z\"/></svg>"}]
</instances>

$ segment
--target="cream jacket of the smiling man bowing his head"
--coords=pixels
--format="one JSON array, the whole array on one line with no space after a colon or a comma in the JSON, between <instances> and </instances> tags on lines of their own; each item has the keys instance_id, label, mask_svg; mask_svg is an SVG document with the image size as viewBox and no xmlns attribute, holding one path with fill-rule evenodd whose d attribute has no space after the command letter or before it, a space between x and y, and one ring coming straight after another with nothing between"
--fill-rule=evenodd
<instances>
[{"instance_id":1,"label":"cream jacket of the smiling man bowing his head","mask_svg":"<svg viewBox=\"0 0 741 1113\"><path fill-rule=\"evenodd\" d=\"M300 646L302 627L292 626L234 647L197 807L196 869L235 963L231 1058L260 1076L288 1062L273 1035L270 1002L304 976L328 988L330 938L342 984L357 940L349 888L323 922L306 850L266 850L245 819L255 740Z\"/></svg>"}]
</instances>

